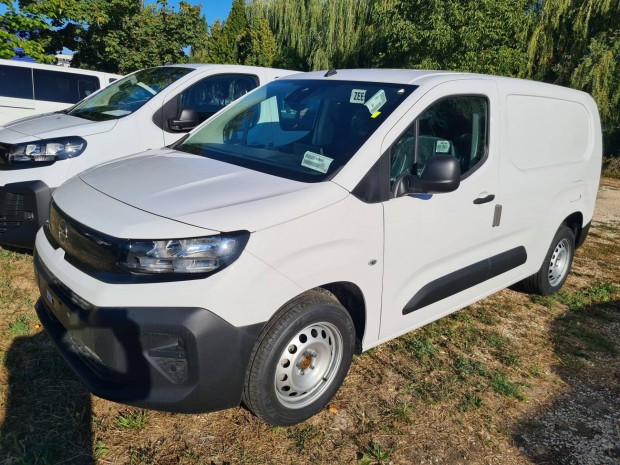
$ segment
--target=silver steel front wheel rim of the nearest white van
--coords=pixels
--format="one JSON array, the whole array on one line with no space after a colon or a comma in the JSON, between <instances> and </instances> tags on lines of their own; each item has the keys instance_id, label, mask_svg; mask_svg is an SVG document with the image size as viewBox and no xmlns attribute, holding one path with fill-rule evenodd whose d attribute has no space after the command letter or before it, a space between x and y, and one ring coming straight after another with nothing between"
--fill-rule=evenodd
<instances>
[{"instance_id":1,"label":"silver steel front wheel rim of the nearest white van","mask_svg":"<svg viewBox=\"0 0 620 465\"><path fill-rule=\"evenodd\" d=\"M274 385L282 405L299 409L321 397L338 372L342 347L342 335L331 323L314 323L298 331L277 361Z\"/></svg>"}]
</instances>

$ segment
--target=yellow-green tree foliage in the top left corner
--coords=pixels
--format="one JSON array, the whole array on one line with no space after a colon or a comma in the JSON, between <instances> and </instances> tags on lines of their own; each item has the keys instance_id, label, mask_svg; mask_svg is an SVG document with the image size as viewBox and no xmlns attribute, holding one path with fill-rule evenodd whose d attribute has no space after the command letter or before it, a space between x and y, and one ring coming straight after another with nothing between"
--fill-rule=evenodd
<instances>
[{"instance_id":1,"label":"yellow-green tree foliage in the top left corner","mask_svg":"<svg viewBox=\"0 0 620 465\"><path fill-rule=\"evenodd\" d=\"M49 29L48 24L31 10L17 11L10 0L0 0L7 11L0 15L0 58L15 56L20 48L29 57L41 62L51 62L54 57L46 53L45 47L33 36Z\"/></svg>"}]
</instances>

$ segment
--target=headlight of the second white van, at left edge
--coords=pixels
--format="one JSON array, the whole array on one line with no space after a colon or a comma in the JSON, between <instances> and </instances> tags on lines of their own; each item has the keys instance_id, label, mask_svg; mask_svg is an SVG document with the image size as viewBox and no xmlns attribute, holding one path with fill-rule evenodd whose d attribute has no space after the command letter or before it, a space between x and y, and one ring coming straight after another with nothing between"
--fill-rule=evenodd
<instances>
[{"instance_id":1,"label":"headlight of the second white van, at left edge","mask_svg":"<svg viewBox=\"0 0 620 465\"><path fill-rule=\"evenodd\" d=\"M2 156L7 163L50 162L77 157L85 149L81 137L60 137L11 145Z\"/></svg>"}]
</instances>

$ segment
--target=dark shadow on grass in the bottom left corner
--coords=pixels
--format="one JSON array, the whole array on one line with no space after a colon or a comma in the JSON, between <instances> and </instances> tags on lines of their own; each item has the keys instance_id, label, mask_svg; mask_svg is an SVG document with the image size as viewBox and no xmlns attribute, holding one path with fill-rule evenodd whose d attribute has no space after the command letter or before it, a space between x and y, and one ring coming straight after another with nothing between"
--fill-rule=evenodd
<instances>
[{"instance_id":1,"label":"dark shadow on grass in the bottom left corner","mask_svg":"<svg viewBox=\"0 0 620 465\"><path fill-rule=\"evenodd\" d=\"M93 464L90 394L48 336L16 338L5 366L0 464Z\"/></svg>"}]
</instances>

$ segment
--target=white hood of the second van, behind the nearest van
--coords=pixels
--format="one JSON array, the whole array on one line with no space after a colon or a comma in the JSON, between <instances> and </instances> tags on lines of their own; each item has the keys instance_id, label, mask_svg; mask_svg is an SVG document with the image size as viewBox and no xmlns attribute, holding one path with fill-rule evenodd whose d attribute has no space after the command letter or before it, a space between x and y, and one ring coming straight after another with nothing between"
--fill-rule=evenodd
<instances>
[{"instance_id":1,"label":"white hood of the second van, behind the nearest van","mask_svg":"<svg viewBox=\"0 0 620 465\"><path fill-rule=\"evenodd\" d=\"M33 139L48 139L64 136L90 136L107 132L117 120L90 121L64 113L46 113L17 121L0 127L0 142L21 143Z\"/></svg>"}]
</instances>

